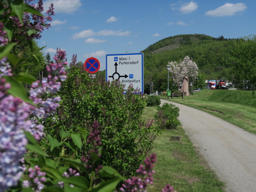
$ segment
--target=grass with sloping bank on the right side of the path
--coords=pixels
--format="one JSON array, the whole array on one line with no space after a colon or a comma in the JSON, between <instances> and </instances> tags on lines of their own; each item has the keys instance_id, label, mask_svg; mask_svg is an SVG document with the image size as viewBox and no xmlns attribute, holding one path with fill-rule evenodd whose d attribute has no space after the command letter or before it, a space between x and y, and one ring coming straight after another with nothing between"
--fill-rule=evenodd
<instances>
[{"instance_id":1,"label":"grass with sloping bank on the right side of the path","mask_svg":"<svg viewBox=\"0 0 256 192\"><path fill-rule=\"evenodd\" d=\"M256 134L256 94L242 90L202 90L184 99L162 97L222 118Z\"/></svg>"}]
</instances>

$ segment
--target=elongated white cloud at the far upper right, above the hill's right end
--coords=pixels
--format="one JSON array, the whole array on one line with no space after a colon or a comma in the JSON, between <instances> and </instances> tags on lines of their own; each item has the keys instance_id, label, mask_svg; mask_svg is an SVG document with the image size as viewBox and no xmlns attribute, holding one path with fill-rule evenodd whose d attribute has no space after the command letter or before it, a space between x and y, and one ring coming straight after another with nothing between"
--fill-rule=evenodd
<instances>
[{"instance_id":1,"label":"elongated white cloud at the far upper right, above the hill's right end","mask_svg":"<svg viewBox=\"0 0 256 192\"><path fill-rule=\"evenodd\" d=\"M246 4L244 3L225 3L224 5L216 8L215 10L206 11L206 15L221 17L221 16L232 16L238 12L246 10Z\"/></svg>"}]
</instances>

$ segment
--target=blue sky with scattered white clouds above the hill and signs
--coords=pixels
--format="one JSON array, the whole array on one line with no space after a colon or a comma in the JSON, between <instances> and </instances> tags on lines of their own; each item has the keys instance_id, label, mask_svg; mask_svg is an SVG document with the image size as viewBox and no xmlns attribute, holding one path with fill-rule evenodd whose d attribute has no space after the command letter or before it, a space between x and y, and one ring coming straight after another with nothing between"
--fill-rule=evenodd
<instances>
[{"instance_id":1,"label":"blue sky with scattered white clouds above the hill and signs","mask_svg":"<svg viewBox=\"0 0 256 192\"><path fill-rule=\"evenodd\" d=\"M50 3L55 16L38 45L51 56L66 50L68 63L95 57L100 70L106 54L138 53L169 36L256 34L254 0L46 0L45 10Z\"/></svg>"}]
</instances>

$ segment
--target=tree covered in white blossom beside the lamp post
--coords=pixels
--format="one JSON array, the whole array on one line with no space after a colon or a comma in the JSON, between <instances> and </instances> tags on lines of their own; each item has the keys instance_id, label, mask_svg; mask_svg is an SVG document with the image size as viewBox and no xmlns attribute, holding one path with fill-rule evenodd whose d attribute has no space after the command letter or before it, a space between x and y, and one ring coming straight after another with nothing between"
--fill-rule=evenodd
<instances>
[{"instance_id":1,"label":"tree covered in white blossom beside the lamp post","mask_svg":"<svg viewBox=\"0 0 256 192\"><path fill-rule=\"evenodd\" d=\"M198 67L195 62L193 62L192 58L186 56L183 61L180 60L177 62L168 62L170 65L169 72L172 73L172 79L177 85L181 85L183 82L183 78L188 76L189 88L191 88L191 84L193 84L194 80L198 76Z\"/></svg>"}]
</instances>

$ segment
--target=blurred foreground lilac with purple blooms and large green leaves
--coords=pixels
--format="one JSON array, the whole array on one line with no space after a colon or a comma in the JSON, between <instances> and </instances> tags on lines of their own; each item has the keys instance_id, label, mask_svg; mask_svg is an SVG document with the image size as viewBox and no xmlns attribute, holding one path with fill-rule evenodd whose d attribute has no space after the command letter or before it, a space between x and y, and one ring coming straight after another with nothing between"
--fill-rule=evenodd
<instances>
[{"instance_id":1,"label":"blurred foreground lilac with purple blooms and large green leaves","mask_svg":"<svg viewBox=\"0 0 256 192\"><path fill-rule=\"evenodd\" d=\"M41 82L30 83L29 96L20 82L12 78L13 65L6 62L6 55L20 42L40 38L40 33L50 26L47 22L51 21L51 16L54 15L53 5L46 12L46 16L43 16L42 0L38 0L37 4L33 2L34 0L1 2L0 192L12 191L12 187L18 184L15 191L64 192L74 189L85 192L98 190L111 192L124 178L110 167L102 165L94 167L95 162L101 157L102 144L97 121L92 124L89 136L82 128L78 128L79 132L74 133L60 129L61 142L45 134L44 127L38 122L39 118L45 120L49 113L60 106L58 104L60 97L53 95L60 90L62 82L67 78L64 67L67 64L65 52L58 49L54 63L46 67L48 76ZM7 25L9 30L4 31ZM18 63L21 59L17 58L15 62ZM75 55L72 60L76 63ZM20 74L19 71L15 73ZM25 82L33 79L29 75L25 77L27 78ZM44 98L46 93L49 94ZM146 127L151 126L152 120L149 120ZM80 160L77 150L81 148L82 140L92 150L86 152L87 154L84 154ZM74 153L67 155L65 152L67 148L72 149ZM156 155L152 154L144 161L145 166L140 166L137 170L138 177L132 178L135 183L129 184L126 180L121 190L132 191L137 187L140 191L145 191L147 184L153 182L154 162ZM86 171L89 172L88 175L85 174Z\"/></svg>"}]
</instances>

